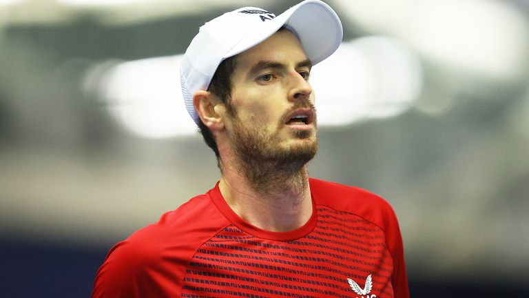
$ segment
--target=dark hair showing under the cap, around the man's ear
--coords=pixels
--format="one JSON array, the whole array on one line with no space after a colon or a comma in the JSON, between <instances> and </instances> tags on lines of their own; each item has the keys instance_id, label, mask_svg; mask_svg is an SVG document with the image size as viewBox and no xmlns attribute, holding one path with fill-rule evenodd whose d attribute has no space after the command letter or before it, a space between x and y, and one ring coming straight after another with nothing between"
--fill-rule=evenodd
<instances>
[{"instance_id":1,"label":"dark hair showing under the cap, around the man's ear","mask_svg":"<svg viewBox=\"0 0 529 298\"><path fill-rule=\"evenodd\" d=\"M235 70L235 57L236 56L232 56L220 62L215 74L213 75L213 78L211 79L211 83L209 83L209 87L207 88L209 92L218 97L220 101L225 104L228 112L231 111L231 74L233 74ZM213 149L215 156L217 159L219 159L220 155L218 153L215 137L211 133L211 130L209 130L209 128L204 125L202 120L200 120L200 118L198 119L198 131L200 131L204 137L204 141L207 143L207 146Z\"/></svg>"}]
</instances>

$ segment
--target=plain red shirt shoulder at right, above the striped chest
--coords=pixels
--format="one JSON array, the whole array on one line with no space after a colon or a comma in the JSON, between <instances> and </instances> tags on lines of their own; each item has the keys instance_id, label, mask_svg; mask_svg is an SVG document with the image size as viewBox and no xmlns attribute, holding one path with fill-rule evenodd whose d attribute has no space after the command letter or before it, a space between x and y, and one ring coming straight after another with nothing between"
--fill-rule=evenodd
<instances>
[{"instance_id":1,"label":"plain red shirt shoulder at right, above the striped chest","mask_svg":"<svg viewBox=\"0 0 529 298\"><path fill-rule=\"evenodd\" d=\"M383 230L397 222L391 205L373 192L313 178L309 180L309 183L316 205L357 215Z\"/></svg>"}]
</instances>

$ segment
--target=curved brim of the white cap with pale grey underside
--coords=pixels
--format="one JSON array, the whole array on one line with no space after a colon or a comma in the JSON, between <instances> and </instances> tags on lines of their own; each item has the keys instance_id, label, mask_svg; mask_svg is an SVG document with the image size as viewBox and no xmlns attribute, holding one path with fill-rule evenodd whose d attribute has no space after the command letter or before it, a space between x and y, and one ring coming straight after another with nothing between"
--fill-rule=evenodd
<instances>
[{"instance_id":1,"label":"curved brim of the white cap with pale grey underside","mask_svg":"<svg viewBox=\"0 0 529 298\"><path fill-rule=\"evenodd\" d=\"M307 57L316 64L329 57L342 42L343 29L334 10L322 1L303 1L276 18L265 21L251 30L225 55L225 59L244 52L271 37L282 26L293 31L300 39Z\"/></svg>"}]
</instances>

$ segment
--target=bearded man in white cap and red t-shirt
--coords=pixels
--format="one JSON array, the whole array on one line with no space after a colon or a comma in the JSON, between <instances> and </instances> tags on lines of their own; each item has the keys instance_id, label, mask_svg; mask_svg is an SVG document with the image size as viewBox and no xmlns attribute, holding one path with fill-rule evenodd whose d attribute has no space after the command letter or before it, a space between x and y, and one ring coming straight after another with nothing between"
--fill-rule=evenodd
<instances>
[{"instance_id":1,"label":"bearded man in white cap and red t-shirt","mask_svg":"<svg viewBox=\"0 0 529 298\"><path fill-rule=\"evenodd\" d=\"M409 296L388 203L307 176L309 74L341 39L321 1L277 17L240 8L200 28L181 83L220 181L114 246L92 297Z\"/></svg>"}]
</instances>

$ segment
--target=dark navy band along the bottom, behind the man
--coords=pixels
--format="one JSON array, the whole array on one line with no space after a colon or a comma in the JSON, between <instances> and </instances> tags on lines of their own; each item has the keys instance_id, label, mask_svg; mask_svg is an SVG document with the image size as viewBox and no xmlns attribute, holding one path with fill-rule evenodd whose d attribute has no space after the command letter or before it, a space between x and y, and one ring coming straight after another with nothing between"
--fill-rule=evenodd
<instances>
[{"instance_id":1,"label":"dark navy band along the bottom, behind the man","mask_svg":"<svg viewBox=\"0 0 529 298\"><path fill-rule=\"evenodd\" d=\"M0 296L90 297L95 272L107 248L82 250L0 242ZM440 284L408 272L412 297L529 297L529 286Z\"/></svg>"}]
</instances>

